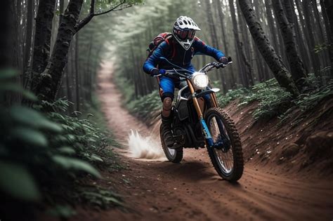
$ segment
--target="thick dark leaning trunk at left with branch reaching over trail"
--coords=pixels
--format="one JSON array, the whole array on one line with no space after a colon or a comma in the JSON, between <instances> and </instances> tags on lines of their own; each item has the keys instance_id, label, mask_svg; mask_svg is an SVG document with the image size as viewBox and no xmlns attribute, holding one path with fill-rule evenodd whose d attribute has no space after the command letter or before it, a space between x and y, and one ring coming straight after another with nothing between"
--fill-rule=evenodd
<instances>
[{"instance_id":1,"label":"thick dark leaning trunk at left with branch reaching over trail","mask_svg":"<svg viewBox=\"0 0 333 221\"><path fill-rule=\"evenodd\" d=\"M70 43L75 34L74 26L79 19L83 0L72 0L67 6L60 24L55 46L48 65L39 77L35 90L39 97L55 100L63 78L63 69L67 63Z\"/></svg>"}]
</instances>

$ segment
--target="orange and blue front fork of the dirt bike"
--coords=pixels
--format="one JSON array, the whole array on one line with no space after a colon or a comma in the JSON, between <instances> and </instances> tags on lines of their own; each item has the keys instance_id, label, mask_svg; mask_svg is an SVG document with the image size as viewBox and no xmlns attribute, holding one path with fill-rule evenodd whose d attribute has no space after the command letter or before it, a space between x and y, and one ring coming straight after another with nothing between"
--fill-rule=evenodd
<instances>
[{"instance_id":1,"label":"orange and blue front fork of the dirt bike","mask_svg":"<svg viewBox=\"0 0 333 221\"><path fill-rule=\"evenodd\" d=\"M206 145L208 147L214 147L214 140L213 140L213 138L211 138L211 133L209 132L206 121L204 121L204 116L200 109L199 102L197 101L197 97L195 95L195 90L194 90L190 80L186 79L186 81L188 82L188 87L190 88L190 92L192 94L193 104L195 106L195 110L197 111L197 116L199 117L199 121L200 121L201 128L202 128L202 133L204 133L204 139L206 141ZM218 107L215 94L211 93L210 96L211 96L212 105L214 107Z\"/></svg>"}]
</instances>

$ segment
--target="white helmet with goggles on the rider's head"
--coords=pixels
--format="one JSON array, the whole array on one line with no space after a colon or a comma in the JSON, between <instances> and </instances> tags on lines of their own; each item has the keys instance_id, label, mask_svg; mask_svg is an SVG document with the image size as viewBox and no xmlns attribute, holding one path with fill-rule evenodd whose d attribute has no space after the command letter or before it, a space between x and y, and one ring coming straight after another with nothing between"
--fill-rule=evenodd
<instances>
[{"instance_id":1,"label":"white helmet with goggles on the rider's head","mask_svg":"<svg viewBox=\"0 0 333 221\"><path fill-rule=\"evenodd\" d=\"M192 18L181 16L177 18L176 22L174 23L172 34L174 34L178 43L180 43L181 46L183 46L183 48L185 48L187 51L194 40L195 31L200 30L201 29L197 27L197 24L193 22Z\"/></svg>"}]
</instances>

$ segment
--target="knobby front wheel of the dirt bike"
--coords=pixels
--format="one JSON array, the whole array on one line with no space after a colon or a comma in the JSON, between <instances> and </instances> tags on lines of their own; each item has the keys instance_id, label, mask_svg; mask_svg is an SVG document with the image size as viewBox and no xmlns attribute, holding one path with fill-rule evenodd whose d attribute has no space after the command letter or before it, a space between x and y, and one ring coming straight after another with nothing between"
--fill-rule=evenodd
<instances>
[{"instance_id":1,"label":"knobby front wheel of the dirt bike","mask_svg":"<svg viewBox=\"0 0 333 221\"><path fill-rule=\"evenodd\" d=\"M235 123L221 108L207 110L205 120L218 147L207 147L211 163L223 179L236 182L242 177L244 161L242 144Z\"/></svg>"}]
</instances>

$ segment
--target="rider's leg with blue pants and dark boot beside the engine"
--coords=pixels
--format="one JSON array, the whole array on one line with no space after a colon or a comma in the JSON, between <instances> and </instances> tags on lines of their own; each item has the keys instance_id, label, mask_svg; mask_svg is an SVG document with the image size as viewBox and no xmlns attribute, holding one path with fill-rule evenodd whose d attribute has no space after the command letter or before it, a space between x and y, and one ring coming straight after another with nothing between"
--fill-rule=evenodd
<instances>
[{"instance_id":1,"label":"rider's leg with blue pants and dark boot beside the engine","mask_svg":"<svg viewBox=\"0 0 333 221\"><path fill-rule=\"evenodd\" d=\"M174 81L167 77L162 77L159 81L159 94L162 100L162 135L166 146L174 146L174 136L171 132L172 123L172 100L174 99Z\"/></svg>"}]
</instances>

